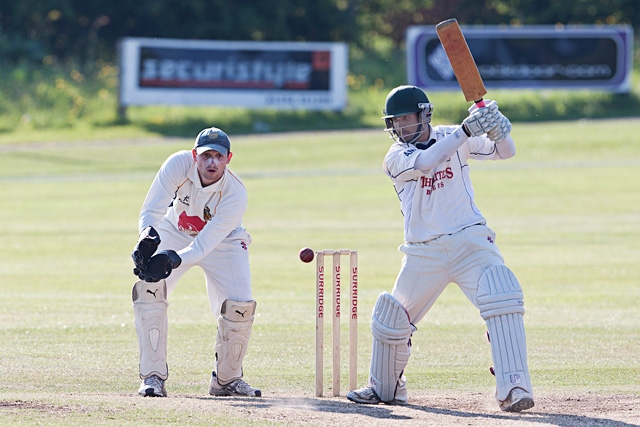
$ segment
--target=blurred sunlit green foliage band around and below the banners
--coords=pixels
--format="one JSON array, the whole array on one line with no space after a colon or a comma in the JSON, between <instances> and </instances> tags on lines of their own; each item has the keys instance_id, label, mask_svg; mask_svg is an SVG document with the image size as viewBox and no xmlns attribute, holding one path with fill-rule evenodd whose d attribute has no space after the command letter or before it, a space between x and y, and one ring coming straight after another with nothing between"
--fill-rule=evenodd
<instances>
[{"instance_id":1,"label":"blurred sunlit green foliage band around and below the banners","mask_svg":"<svg viewBox=\"0 0 640 427\"><path fill-rule=\"evenodd\" d=\"M381 128L387 93L404 83L398 75L387 75L386 81L375 77L385 66L368 57L352 62L348 105L342 112L140 106L130 107L122 122L117 115L118 70L112 64L98 61L93 71L84 73L74 64L23 63L0 68L0 142L65 129L64 138L97 139L114 132L186 136L211 124L235 134ZM633 91L627 94L502 90L490 91L488 97L497 99L513 122L631 117L640 115L640 72L633 80ZM428 96L435 105L436 123L459 123L467 115L468 103L458 91L433 91ZM14 137L7 138L10 135Z\"/></svg>"}]
</instances>

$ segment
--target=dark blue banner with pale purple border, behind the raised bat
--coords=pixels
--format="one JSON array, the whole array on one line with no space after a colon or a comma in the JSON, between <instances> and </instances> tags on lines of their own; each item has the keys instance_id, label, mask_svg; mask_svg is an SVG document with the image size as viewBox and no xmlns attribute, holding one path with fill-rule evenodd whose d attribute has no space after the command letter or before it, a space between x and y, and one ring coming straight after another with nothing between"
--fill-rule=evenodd
<instances>
[{"instance_id":1,"label":"dark blue banner with pale purple border, behind the raised bat","mask_svg":"<svg viewBox=\"0 0 640 427\"><path fill-rule=\"evenodd\" d=\"M629 26L461 28L487 88L630 88ZM425 89L459 89L435 26L407 30L407 74Z\"/></svg>"}]
</instances>

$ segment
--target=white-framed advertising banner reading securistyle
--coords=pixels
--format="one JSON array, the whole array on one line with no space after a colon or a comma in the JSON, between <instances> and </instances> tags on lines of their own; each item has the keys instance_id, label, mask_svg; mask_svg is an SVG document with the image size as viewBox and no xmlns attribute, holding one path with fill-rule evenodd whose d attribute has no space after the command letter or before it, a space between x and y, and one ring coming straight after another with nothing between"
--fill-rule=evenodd
<instances>
[{"instance_id":1,"label":"white-framed advertising banner reading securistyle","mask_svg":"<svg viewBox=\"0 0 640 427\"><path fill-rule=\"evenodd\" d=\"M341 110L342 43L126 38L119 45L121 105L233 105Z\"/></svg>"}]
</instances>

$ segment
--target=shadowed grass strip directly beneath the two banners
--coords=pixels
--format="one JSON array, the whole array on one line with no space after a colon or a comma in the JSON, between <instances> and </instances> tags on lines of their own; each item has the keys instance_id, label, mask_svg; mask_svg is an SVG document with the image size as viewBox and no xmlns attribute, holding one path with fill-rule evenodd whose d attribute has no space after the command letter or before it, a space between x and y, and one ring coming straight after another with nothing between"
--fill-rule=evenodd
<instances>
[{"instance_id":1,"label":"shadowed grass strip directly beneath the two banners","mask_svg":"<svg viewBox=\"0 0 640 427\"><path fill-rule=\"evenodd\" d=\"M498 95L499 97L499 95ZM524 93L499 100L501 111L514 122L572 121L640 117L640 96L634 93L605 92ZM217 126L230 135L272 132L348 130L382 128L377 111L382 106L350 106L342 112L308 110L250 110L215 107L191 113L166 110L156 114L128 114L119 124L132 124L163 136L192 136L200 130ZM440 121L459 123L467 116L466 104L440 102L436 105ZM372 111L375 110L376 113ZM151 116L151 117L150 117Z\"/></svg>"}]
</instances>

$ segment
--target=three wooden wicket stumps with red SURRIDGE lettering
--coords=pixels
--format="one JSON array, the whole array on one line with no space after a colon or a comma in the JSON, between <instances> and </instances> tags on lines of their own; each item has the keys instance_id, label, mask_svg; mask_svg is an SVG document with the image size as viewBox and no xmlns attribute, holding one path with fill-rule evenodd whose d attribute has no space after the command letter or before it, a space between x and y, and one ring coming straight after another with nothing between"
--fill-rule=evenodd
<instances>
[{"instance_id":1,"label":"three wooden wicket stumps with red SURRIDGE lettering","mask_svg":"<svg viewBox=\"0 0 640 427\"><path fill-rule=\"evenodd\" d=\"M333 284L333 395L340 396L340 314L341 271L340 256L349 255L349 388L355 390L358 382L358 251L350 249L324 249L316 251L316 396L323 391L324 369L324 316L325 268L324 257L332 257Z\"/></svg>"}]
</instances>

